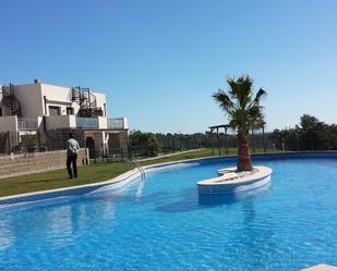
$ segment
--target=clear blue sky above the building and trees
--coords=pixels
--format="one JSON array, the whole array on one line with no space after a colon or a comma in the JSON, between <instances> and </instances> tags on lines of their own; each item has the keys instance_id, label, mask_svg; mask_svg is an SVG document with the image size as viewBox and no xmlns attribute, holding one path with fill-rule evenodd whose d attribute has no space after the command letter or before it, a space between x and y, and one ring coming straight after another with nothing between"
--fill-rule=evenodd
<instances>
[{"instance_id":1,"label":"clear blue sky above the building and trees","mask_svg":"<svg viewBox=\"0 0 337 271\"><path fill-rule=\"evenodd\" d=\"M205 132L212 95L249 74L267 131L337 123L335 0L0 0L0 83L104 91L131 130Z\"/></svg>"}]
</instances>

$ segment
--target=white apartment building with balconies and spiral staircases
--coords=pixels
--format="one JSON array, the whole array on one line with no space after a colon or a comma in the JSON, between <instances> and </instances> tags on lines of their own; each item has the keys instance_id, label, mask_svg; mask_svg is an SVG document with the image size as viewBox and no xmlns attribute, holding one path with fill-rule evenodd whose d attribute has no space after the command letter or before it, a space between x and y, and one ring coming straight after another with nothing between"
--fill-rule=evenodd
<instances>
[{"instance_id":1,"label":"white apartment building with balconies and spiral staircases","mask_svg":"<svg viewBox=\"0 0 337 271\"><path fill-rule=\"evenodd\" d=\"M38 79L0 87L0 133L11 134L12 145L20 144L22 135L59 130L83 131L86 146L82 147L89 149L127 147L128 121L107 118L103 93Z\"/></svg>"}]
</instances>

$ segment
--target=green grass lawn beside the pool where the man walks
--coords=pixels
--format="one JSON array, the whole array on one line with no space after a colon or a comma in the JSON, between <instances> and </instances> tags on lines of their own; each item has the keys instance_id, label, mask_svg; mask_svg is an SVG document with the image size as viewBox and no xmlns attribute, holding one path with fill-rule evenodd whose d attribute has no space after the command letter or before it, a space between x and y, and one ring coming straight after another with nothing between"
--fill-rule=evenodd
<instances>
[{"instance_id":1,"label":"green grass lawn beside the pool where the man walks","mask_svg":"<svg viewBox=\"0 0 337 271\"><path fill-rule=\"evenodd\" d=\"M256 149L256 151L261 151L261 149ZM221 149L221 155L225 153L226 149ZM229 155L236 155L236 153L237 149L233 148L229 149ZM185 153L177 153L170 157L163 157L154 160L142 161L141 164L148 165L155 163L178 161L183 159L212 157L217 155L218 155L217 149L214 150L214 155L212 149L200 149ZM125 164L124 162L110 162L110 163L101 162L91 164L87 167L80 167L79 177L72 180L68 178L68 173L65 169L0 178L0 197L17 195L23 193L69 187L74 185L97 183L113 178L133 168L134 167L131 163Z\"/></svg>"}]
</instances>

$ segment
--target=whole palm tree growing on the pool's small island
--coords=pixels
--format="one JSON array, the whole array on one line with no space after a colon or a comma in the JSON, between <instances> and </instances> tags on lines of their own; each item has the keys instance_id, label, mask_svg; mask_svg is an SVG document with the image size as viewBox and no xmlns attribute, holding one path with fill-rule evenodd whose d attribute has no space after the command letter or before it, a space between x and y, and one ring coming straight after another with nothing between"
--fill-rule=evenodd
<instances>
[{"instance_id":1,"label":"whole palm tree growing on the pool's small island","mask_svg":"<svg viewBox=\"0 0 337 271\"><path fill-rule=\"evenodd\" d=\"M227 79L229 91L219 89L213 95L220 108L227 113L229 126L238 133L238 171L252 171L252 160L246 135L250 130L255 130L264 123L261 99L266 91L260 88L253 98L253 81L248 75L238 79Z\"/></svg>"}]
</instances>

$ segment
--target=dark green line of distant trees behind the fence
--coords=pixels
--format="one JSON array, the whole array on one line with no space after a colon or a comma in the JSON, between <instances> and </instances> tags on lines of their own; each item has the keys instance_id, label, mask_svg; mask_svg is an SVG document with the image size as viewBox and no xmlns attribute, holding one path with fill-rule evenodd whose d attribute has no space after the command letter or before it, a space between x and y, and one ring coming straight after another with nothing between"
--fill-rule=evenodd
<instances>
[{"instance_id":1,"label":"dark green line of distant trees behind the fence","mask_svg":"<svg viewBox=\"0 0 337 271\"><path fill-rule=\"evenodd\" d=\"M248 135L251 151L272 151L282 149L290 151L337 150L337 125L326 124L315 116L303 114L294 127L274 130L262 133L262 130ZM233 131L228 135L219 133L143 133L132 131L129 135L129 152L139 157L155 157L157 155L197 148L237 148L238 140ZM217 153L215 151L215 153ZM224 151L221 152L224 155Z\"/></svg>"}]
</instances>

